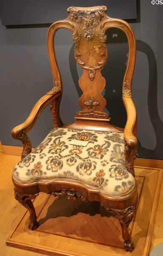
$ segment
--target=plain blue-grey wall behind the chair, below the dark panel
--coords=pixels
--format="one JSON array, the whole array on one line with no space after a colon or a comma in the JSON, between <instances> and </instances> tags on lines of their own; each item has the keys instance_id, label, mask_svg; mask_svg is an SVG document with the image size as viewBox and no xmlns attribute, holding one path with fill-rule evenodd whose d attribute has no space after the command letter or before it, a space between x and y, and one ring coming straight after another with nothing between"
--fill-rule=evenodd
<instances>
[{"instance_id":1,"label":"plain blue-grey wall behind the chair, below the dark panel","mask_svg":"<svg viewBox=\"0 0 163 256\"><path fill-rule=\"evenodd\" d=\"M152 5L150 0L140 2L140 23L130 23L137 39L132 88L138 116L138 153L139 157L163 159L163 6ZM43 27L6 29L0 24L0 140L4 145L21 145L20 141L12 139L11 129L26 119L35 102L53 86L47 31L48 28ZM124 126L126 113L120 94L128 44L126 36L116 29L107 34L111 39L107 43L109 59L102 71L106 78L103 94L108 100L106 110L112 122ZM61 117L63 122L73 122L80 109L77 99L81 95L78 87L81 70L74 61L71 32L60 29L55 44L64 89ZM29 132L32 145L40 143L52 127L47 107Z\"/></svg>"}]
</instances>

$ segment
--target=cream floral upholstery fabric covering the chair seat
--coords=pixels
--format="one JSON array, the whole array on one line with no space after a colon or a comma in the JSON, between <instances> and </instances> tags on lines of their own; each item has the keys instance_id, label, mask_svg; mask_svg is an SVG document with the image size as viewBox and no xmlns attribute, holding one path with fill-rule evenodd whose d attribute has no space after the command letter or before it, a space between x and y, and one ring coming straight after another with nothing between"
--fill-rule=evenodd
<instances>
[{"instance_id":1,"label":"cream floral upholstery fabric covering the chair seat","mask_svg":"<svg viewBox=\"0 0 163 256\"><path fill-rule=\"evenodd\" d=\"M87 146L71 140L88 141ZM123 133L54 128L43 142L14 167L14 180L72 180L98 187L112 197L126 195L135 179L125 167Z\"/></svg>"}]
</instances>

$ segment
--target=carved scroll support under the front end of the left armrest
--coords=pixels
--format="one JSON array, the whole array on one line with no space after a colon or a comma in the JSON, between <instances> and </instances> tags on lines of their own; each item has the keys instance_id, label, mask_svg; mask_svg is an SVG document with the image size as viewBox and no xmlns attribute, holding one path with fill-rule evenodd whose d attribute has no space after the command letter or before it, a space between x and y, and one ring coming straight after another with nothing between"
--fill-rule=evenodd
<instances>
[{"instance_id":1,"label":"carved scroll support under the front end of the left armrest","mask_svg":"<svg viewBox=\"0 0 163 256\"><path fill-rule=\"evenodd\" d=\"M21 159L23 159L29 153L31 153L31 141L24 131L20 131L17 134L17 140L20 140L23 144L23 152L21 156Z\"/></svg>"}]
</instances>

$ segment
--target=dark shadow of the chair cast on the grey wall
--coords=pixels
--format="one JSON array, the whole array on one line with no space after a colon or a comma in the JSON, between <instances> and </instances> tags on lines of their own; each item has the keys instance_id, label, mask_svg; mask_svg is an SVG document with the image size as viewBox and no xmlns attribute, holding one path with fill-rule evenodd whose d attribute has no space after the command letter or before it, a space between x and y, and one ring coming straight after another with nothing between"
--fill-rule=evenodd
<instances>
[{"instance_id":1,"label":"dark shadow of the chair cast on the grey wall","mask_svg":"<svg viewBox=\"0 0 163 256\"><path fill-rule=\"evenodd\" d=\"M108 29L106 34L108 38L106 42L108 49L108 61L101 71L102 76L106 79L106 87L102 93L102 95L107 99L105 111L110 113L111 121L114 125L125 127L127 116L122 100L122 84L128 61L128 41L126 35L120 29ZM162 159L161 145L163 134L161 131L163 131L163 122L159 117L157 108L156 58L151 47L143 41L137 40L137 51L145 53L149 62L148 115L154 128L157 141L154 149L144 148L141 146L140 141L138 141L139 157ZM80 97L82 95L82 90L78 85L79 75L77 64L74 59L74 44L69 53L69 64L71 76ZM140 78L138 78L138 80L140 80ZM140 93L140 91L138 93ZM148 124L146 129L148 129ZM146 138L144 139L146 140Z\"/></svg>"}]
</instances>

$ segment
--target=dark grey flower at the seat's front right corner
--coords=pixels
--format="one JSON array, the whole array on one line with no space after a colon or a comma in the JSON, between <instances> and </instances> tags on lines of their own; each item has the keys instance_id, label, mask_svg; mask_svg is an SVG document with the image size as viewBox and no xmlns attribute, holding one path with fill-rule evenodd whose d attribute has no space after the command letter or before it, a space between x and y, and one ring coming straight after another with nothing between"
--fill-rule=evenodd
<instances>
[{"instance_id":1,"label":"dark grey flower at the seat's front right corner","mask_svg":"<svg viewBox=\"0 0 163 256\"><path fill-rule=\"evenodd\" d=\"M129 173L127 172L126 168L121 164L116 165L113 164L109 169L110 177L115 178L116 180L127 179L129 177Z\"/></svg>"}]
</instances>

